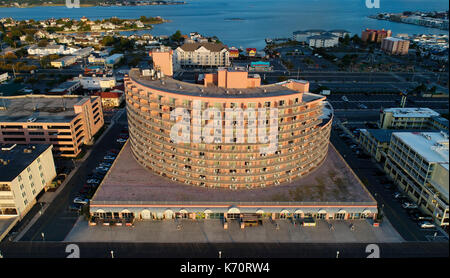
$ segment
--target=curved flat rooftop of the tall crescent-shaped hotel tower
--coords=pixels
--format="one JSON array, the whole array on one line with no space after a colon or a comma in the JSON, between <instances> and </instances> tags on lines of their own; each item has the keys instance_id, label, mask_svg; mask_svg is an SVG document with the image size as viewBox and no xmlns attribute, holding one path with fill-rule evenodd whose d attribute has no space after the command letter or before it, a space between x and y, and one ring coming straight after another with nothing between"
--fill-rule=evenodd
<instances>
[{"instance_id":1,"label":"curved flat rooftop of the tall crescent-shaped hotel tower","mask_svg":"<svg viewBox=\"0 0 450 278\"><path fill-rule=\"evenodd\" d=\"M139 69L131 69L129 77L135 82L156 90L162 90L180 95L220 97L220 98L248 98L248 97L270 97L298 94L298 91L291 90L281 84L275 83L271 85L263 85L256 88L247 89L230 89L217 86L208 86L193 84L173 79L171 77L162 77L152 80L151 76L142 76ZM294 80L292 80L294 82ZM306 82L295 80L295 82ZM310 100L320 99L323 96L309 94Z\"/></svg>"}]
</instances>

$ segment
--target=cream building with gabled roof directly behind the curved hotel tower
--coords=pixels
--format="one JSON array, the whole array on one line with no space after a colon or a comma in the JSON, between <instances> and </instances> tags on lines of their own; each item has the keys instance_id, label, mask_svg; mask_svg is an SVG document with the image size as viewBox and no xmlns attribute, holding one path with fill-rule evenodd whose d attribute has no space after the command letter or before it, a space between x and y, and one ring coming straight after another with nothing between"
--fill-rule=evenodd
<instances>
[{"instance_id":1,"label":"cream building with gabled roof directly behind the curved hotel tower","mask_svg":"<svg viewBox=\"0 0 450 278\"><path fill-rule=\"evenodd\" d=\"M230 65L228 47L221 43L185 43L174 51L174 63L179 66L213 66Z\"/></svg>"}]
</instances>

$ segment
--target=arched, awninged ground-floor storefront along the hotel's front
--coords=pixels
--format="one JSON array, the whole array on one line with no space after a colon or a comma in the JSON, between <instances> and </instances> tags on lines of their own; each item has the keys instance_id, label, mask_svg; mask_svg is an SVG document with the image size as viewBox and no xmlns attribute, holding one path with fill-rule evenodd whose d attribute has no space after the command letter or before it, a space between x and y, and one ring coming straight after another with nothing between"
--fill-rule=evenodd
<instances>
[{"instance_id":1,"label":"arched, awninged ground-floor storefront along the hotel's front","mask_svg":"<svg viewBox=\"0 0 450 278\"><path fill-rule=\"evenodd\" d=\"M92 221L114 222L122 221L132 223L136 220L163 220L163 219L320 219L320 220L353 220L375 219L378 214L376 205L367 206L341 206L341 207L143 207L143 206L90 206Z\"/></svg>"}]
</instances>

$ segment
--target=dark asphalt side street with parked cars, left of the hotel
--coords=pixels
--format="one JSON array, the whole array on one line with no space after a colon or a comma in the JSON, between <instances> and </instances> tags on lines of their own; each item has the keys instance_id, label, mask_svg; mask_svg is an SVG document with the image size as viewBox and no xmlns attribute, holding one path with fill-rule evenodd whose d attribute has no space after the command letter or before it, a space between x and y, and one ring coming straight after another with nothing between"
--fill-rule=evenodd
<instances>
[{"instance_id":1,"label":"dark asphalt side street with parked cars, left of the hotel","mask_svg":"<svg viewBox=\"0 0 450 278\"><path fill-rule=\"evenodd\" d=\"M120 149L121 145L115 140L125 125L126 113L123 113L114 126L103 136L101 141L94 145L89 158L78 168L78 171L68 181L64 189L53 200L43 215L20 239L21 241L64 240L78 219L77 212L68 210L69 205L72 204L72 200L83 187L87 175L103 160L105 153L109 149ZM42 233L44 233L44 238L42 238Z\"/></svg>"}]
</instances>

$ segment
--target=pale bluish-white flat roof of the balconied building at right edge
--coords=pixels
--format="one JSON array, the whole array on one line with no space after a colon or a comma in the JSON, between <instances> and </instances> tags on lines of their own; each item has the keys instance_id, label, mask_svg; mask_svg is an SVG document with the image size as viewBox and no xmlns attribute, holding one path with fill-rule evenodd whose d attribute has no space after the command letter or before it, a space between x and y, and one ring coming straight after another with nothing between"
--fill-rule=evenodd
<instances>
[{"instance_id":1,"label":"pale bluish-white flat roof of the balconied building at right edge","mask_svg":"<svg viewBox=\"0 0 450 278\"><path fill-rule=\"evenodd\" d=\"M449 169L448 134L444 132L394 132L393 135L426 161L439 163L447 170Z\"/></svg>"}]
</instances>

